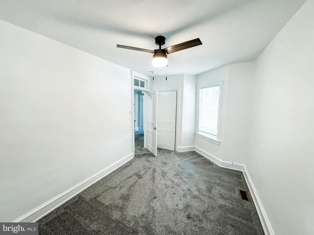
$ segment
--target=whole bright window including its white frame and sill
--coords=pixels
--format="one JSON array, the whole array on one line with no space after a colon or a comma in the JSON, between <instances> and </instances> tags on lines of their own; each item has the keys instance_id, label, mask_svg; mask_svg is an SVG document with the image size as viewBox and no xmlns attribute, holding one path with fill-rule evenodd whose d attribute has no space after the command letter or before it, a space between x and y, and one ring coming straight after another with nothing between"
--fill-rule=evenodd
<instances>
[{"instance_id":1,"label":"whole bright window including its white frame and sill","mask_svg":"<svg viewBox=\"0 0 314 235\"><path fill-rule=\"evenodd\" d=\"M221 83L199 87L197 135L219 144Z\"/></svg>"}]
</instances>

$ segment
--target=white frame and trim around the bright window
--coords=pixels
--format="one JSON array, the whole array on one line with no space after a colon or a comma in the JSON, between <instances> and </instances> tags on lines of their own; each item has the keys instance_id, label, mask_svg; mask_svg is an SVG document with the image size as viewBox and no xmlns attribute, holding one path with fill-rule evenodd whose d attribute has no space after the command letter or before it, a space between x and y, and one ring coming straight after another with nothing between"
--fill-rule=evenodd
<instances>
[{"instance_id":1,"label":"white frame and trim around the bright window","mask_svg":"<svg viewBox=\"0 0 314 235\"><path fill-rule=\"evenodd\" d=\"M197 87L197 104L198 104L198 108L196 111L196 136L206 140L206 141L210 141L212 143L215 143L217 145L220 144L220 122L221 122L221 103L222 103L222 85L223 85L223 80L217 81L217 82L212 82L212 83L208 83L208 84L199 84ZM205 88L210 88L210 87L216 87L219 86L219 100L218 100L218 121L217 121L217 136L214 135L210 135L206 132L200 131L199 130L199 118L200 118L200 108L201 108L201 89L205 89Z\"/></svg>"}]
</instances>

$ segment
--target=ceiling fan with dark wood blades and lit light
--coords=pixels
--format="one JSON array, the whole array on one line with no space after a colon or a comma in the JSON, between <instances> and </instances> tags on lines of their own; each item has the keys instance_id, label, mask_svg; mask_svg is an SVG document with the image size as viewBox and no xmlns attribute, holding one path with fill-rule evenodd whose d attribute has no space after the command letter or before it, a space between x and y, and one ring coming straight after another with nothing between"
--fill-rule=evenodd
<instances>
[{"instance_id":1,"label":"ceiling fan with dark wood blades and lit light","mask_svg":"<svg viewBox=\"0 0 314 235\"><path fill-rule=\"evenodd\" d=\"M161 46L165 44L166 38L164 36L157 36L155 38L155 44L159 46L159 49L155 50L148 50L138 47L129 47L129 46L123 46L123 45L117 45L119 48L125 48L130 50L138 50L143 52L152 53L153 55L153 66L155 67L167 67L168 66L168 59L167 54L171 54L173 52L177 52L180 50L184 50L190 47L196 47L202 45L202 42L199 38L180 43L171 47L166 47L161 49Z\"/></svg>"}]
</instances>

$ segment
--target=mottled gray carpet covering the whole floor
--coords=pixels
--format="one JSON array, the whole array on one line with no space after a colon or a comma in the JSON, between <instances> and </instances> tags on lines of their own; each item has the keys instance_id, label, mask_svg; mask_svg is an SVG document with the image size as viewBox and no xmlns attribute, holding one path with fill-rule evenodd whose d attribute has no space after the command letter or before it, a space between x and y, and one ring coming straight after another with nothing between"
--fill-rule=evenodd
<instances>
[{"instance_id":1,"label":"mottled gray carpet covering the whole floor","mask_svg":"<svg viewBox=\"0 0 314 235\"><path fill-rule=\"evenodd\" d=\"M46 215L41 235L263 235L243 174L196 152L158 149L136 136L127 164Z\"/></svg>"}]
</instances>

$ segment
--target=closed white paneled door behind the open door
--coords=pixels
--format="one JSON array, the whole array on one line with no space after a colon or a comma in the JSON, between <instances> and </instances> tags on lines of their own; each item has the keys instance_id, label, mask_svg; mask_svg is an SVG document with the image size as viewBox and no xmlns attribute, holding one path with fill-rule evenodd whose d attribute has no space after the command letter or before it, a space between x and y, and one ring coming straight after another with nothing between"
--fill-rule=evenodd
<instances>
[{"instance_id":1,"label":"closed white paneled door behind the open door","mask_svg":"<svg viewBox=\"0 0 314 235\"><path fill-rule=\"evenodd\" d=\"M177 92L158 92L157 147L175 150Z\"/></svg>"}]
</instances>

